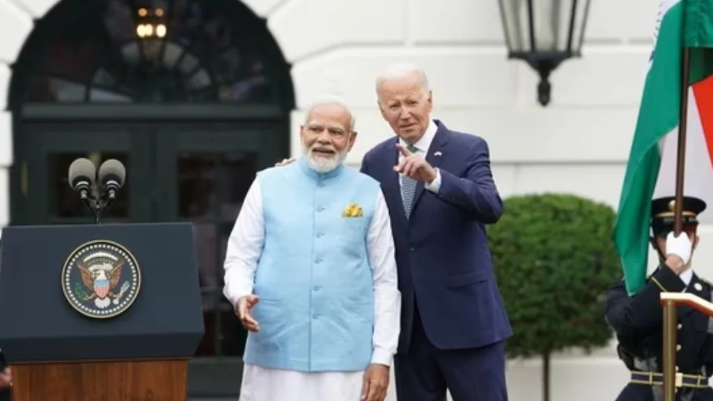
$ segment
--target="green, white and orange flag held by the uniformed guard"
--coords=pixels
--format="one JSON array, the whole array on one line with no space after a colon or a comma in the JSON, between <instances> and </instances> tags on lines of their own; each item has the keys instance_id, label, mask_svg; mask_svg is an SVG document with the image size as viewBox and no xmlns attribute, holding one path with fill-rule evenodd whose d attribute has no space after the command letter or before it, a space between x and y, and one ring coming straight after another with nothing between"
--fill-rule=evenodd
<instances>
[{"instance_id":1,"label":"green, white and orange flag held by the uniformed guard","mask_svg":"<svg viewBox=\"0 0 713 401\"><path fill-rule=\"evenodd\" d=\"M713 208L713 0L662 0L654 37L614 233L630 294L646 283L651 200L675 194L684 47L691 53L684 195Z\"/></svg>"}]
</instances>

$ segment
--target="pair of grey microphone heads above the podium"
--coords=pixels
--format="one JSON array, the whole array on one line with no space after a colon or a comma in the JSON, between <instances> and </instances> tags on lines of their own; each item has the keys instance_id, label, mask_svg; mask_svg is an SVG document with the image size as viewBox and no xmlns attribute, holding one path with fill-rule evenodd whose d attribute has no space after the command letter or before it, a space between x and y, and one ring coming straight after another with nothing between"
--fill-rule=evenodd
<instances>
[{"instance_id":1,"label":"pair of grey microphone heads above the podium","mask_svg":"<svg viewBox=\"0 0 713 401\"><path fill-rule=\"evenodd\" d=\"M78 158L69 165L69 186L79 193L82 200L91 199L91 188L97 178L107 200L114 200L117 191L124 185L126 168L113 158L101 163L98 174L96 166L88 158Z\"/></svg>"}]
</instances>

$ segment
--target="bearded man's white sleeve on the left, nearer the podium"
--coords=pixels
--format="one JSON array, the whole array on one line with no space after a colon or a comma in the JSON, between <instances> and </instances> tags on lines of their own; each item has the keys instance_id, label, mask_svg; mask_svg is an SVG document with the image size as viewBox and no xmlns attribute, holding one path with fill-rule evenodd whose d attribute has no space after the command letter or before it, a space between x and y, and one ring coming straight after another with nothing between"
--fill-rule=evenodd
<instances>
[{"instance_id":1,"label":"bearded man's white sleeve on the left, nearer the podium","mask_svg":"<svg viewBox=\"0 0 713 401\"><path fill-rule=\"evenodd\" d=\"M225 251L223 295L235 306L237 300L252 294L257 260L265 245L265 220L262 215L260 181L255 178L247 190Z\"/></svg>"}]
</instances>

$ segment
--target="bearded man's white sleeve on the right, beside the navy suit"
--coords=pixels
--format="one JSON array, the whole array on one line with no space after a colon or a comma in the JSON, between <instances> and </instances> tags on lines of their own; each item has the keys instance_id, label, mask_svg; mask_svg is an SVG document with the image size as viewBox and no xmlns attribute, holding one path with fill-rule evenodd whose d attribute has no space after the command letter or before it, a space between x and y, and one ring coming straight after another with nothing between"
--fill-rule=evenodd
<instances>
[{"instance_id":1,"label":"bearded man's white sleeve on the right, beside the navy suit","mask_svg":"<svg viewBox=\"0 0 713 401\"><path fill-rule=\"evenodd\" d=\"M399 346L401 293L396 278L389 209L381 191L376 197L374 218L366 236L366 250L374 275L374 352L371 362L390 366Z\"/></svg>"}]
</instances>

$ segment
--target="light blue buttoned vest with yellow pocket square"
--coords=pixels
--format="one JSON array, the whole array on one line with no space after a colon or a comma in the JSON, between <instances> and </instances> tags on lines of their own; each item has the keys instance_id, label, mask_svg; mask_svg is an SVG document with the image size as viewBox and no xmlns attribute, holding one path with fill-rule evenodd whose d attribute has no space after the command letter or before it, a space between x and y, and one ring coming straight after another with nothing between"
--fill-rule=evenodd
<instances>
[{"instance_id":1,"label":"light blue buttoned vest with yellow pocket square","mask_svg":"<svg viewBox=\"0 0 713 401\"><path fill-rule=\"evenodd\" d=\"M371 360L374 285L366 234L379 183L300 158L258 173L265 247L255 274L245 362L303 372L364 370Z\"/></svg>"}]
</instances>

